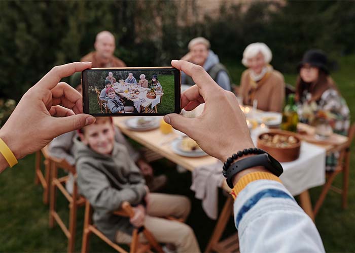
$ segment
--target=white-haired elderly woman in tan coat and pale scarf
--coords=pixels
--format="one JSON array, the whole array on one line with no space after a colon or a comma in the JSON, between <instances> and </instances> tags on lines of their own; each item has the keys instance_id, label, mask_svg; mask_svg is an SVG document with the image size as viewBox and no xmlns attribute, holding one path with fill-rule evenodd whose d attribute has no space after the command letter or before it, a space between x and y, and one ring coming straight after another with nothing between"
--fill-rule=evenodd
<instances>
[{"instance_id":1,"label":"white-haired elderly woman in tan coat and pale scarf","mask_svg":"<svg viewBox=\"0 0 355 253\"><path fill-rule=\"evenodd\" d=\"M241 61L246 69L240 80L238 95L244 105L258 101L258 109L281 112L285 99L283 75L269 64L272 53L264 43L252 43L243 52Z\"/></svg>"}]
</instances>

